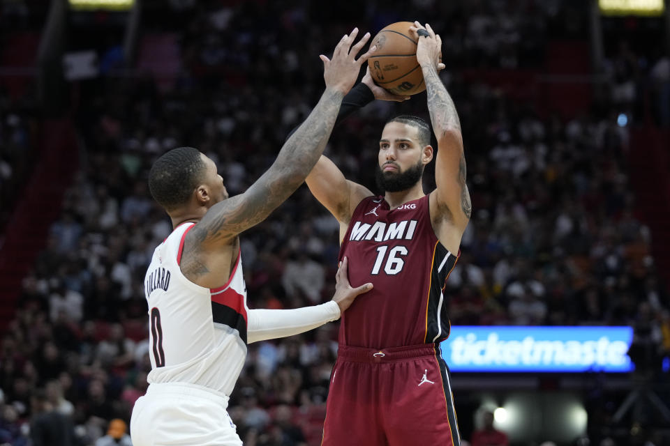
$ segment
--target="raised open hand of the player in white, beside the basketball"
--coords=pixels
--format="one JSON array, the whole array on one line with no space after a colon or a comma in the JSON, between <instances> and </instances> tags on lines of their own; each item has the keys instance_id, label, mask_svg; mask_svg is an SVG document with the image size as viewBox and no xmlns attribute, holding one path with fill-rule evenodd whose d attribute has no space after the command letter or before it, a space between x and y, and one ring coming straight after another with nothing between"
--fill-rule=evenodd
<instances>
[{"instance_id":1,"label":"raised open hand of the player in white, beside the basketball","mask_svg":"<svg viewBox=\"0 0 670 446\"><path fill-rule=\"evenodd\" d=\"M323 61L323 79L326 81L327 89L335 89L342 94L349 93L356 82L361 66L377 49L376 46L373 46L356 59L356 54L370 39L370 33L365 33L365 36L356 45L352 46L357 35L358 28L354 28L349 35L345 34L335 47L332 59L328 59L323 54L319 56Z\"/></svg>"}]
</instances>

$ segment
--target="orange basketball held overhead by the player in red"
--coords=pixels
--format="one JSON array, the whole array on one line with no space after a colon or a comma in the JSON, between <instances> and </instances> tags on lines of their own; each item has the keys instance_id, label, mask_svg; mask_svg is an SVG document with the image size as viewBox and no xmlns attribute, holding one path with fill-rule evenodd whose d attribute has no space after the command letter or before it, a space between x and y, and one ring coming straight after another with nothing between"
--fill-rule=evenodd
<instances>
[{"instance_id":1,"label":"orange basketball held overhead by the player in red","mask_svg":"<svg viewBox=\"0 0 670 446\"><path fill-rule=\"evenodd\" d=\"M372 79L394 95L415 95L426 89L424 73L417 62L417 40L410 34L412 22L386 26L373 38L377 45L368 59Z\"/></svg>"}]
</instances>

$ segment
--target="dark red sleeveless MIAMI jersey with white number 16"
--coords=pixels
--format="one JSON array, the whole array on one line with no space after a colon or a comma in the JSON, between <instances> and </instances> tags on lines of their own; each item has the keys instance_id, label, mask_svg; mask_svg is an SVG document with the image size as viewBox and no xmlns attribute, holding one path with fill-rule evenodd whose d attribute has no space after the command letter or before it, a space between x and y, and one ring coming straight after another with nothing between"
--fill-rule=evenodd
<instances>
[{"instance_id":1,"label":"dark red sleeveless MIAMI jersey with white number 16","mask_svg":"<svg viewBox=\"0 0 670 446\"><path fill-rule=\"evenodd\" d=\"M339 342L389 348L449 336L444 287L458 260L435 235L429 195L390 209L367 197L354 211L340 247L352 286L372 282L342 315Z\"/></svg>"}]
</instances>

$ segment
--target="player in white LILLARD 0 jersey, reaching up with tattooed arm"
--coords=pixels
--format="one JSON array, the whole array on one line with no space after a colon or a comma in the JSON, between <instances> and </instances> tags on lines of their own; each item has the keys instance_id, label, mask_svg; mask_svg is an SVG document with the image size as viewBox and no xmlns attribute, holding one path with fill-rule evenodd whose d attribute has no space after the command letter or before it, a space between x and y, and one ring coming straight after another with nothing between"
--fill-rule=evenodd
<instances>
[{"instance_id":1,"label":"player in white LILLARD 0 jersey, reaching up with tattooed arm","mask_svg":"<svg viewBox=\"0 0 670 446\"><path fill-rule=\"evenodd\" d=\"M151 372L147 394L133 408L133 445L241 445L226 408L246 344L334 321L356 295L372 288L352 289L343 262L330 302L248 309L238 238L287 199L318 161L343 96L375 49L356 59L370 37L366 33L352 45L357 33L343 36L332 59L320 56L325 93L274 164L243 194L228 198L216 165L195 148L165 153L151 168L151 195L170 215L174 231L156 248L144 280Z\"/></svg>"}]
</instances>

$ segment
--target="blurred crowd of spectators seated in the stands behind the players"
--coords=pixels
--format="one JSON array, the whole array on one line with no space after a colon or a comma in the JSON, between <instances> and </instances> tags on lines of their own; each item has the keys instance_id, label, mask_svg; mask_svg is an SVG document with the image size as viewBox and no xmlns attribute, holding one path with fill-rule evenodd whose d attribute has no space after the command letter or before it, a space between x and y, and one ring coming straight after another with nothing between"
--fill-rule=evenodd
<instances>
[{"instance_id":1,"label":"blurred crowd of spectators seated in the stands behind the players","mask_svg":"<svg viewBox=\"0 0 670 446\"><path fill-rule=\"evenodd\" d=\"M447 282L452 324L632 325L633 360L650 374L661 370L670 355L670 300L650 231L635 217L629 132L616 108L620 98L634 103L630 89L617 86L635 73L637 91L645 84L639 71L621 70L627 56L613 59L620 82L609 91L619 93L579 116L539 116L533 105L464 82L459 72L538 65L547 33L579 36L582 15L544 1L414 0L394 12L374 2L362 11L354 2L263 2L262 12L255 2L230 3L172 0L146 17L147 31L173 26L179 36L181 70L168 88L144 74L77 85L82 169L1 337L0 445L29 445L28 426L35 434L53 422L71 423L68 445L128 441L124 422L151 369L144 273L172 230L147 190L152 162L194 146L218 164L231 195L246 190L318 100L318 54L349 31L350 17L362 17L355 25L365 31L408 11L430 15L449 48L442 79L463 125L473 209ZM662 63L652 71L662 75ZM13 153L29 150L31 126L4 98L3 203L17 190L6 184L19 165ZM326 153L345 176L375 190L377 140L396 114L427 119L425 96L373 102L334 130ZM432 167L424 183L434 187ZM306 187L244 233L241 251L251 308L313 305L332 295L338 224ZM229 407L245 445L320 443L336 333L330 323L248 346Z\"/></svg>"}]
</instances>

